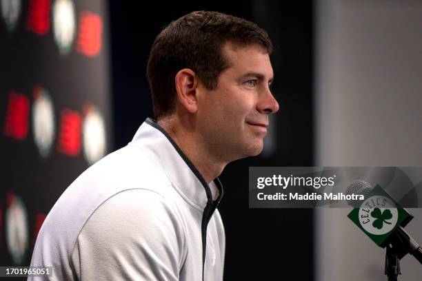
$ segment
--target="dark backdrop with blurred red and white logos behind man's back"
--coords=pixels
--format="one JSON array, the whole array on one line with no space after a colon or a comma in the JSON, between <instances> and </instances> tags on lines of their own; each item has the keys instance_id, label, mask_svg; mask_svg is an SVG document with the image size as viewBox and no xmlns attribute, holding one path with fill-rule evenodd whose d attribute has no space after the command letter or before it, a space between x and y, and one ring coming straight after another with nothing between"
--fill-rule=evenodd
<instances>
[{"instance_id":1,"label":"dark backdrop with blurred red and white logos behind man's back","mask_svg":"<svg viewBox=\"0 0 422 281\"><path fill-rule=\"evenodd\" d=\"M108 9L101 0L0 1L2 266L29 264L54 202L114 150Z\"/></svg>"}]
</instances>

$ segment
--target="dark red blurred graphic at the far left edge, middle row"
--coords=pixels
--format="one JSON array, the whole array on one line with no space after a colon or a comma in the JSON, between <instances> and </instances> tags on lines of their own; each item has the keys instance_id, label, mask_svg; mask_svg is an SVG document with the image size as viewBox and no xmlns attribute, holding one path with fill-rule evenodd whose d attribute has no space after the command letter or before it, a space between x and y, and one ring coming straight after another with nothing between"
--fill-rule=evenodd
<instances>
[{"instance_id":1,"label":"dark red blurred graphic at the far left edge, middle row","mask_svg":"<svg viewBox=\"0 0 422 281\"><path fill-rule=\"evenodd\" d=\"M30 101L28 96L10 92L4 134L21 141L28 134L28 115Z\"/></svg>"}]
</instances>

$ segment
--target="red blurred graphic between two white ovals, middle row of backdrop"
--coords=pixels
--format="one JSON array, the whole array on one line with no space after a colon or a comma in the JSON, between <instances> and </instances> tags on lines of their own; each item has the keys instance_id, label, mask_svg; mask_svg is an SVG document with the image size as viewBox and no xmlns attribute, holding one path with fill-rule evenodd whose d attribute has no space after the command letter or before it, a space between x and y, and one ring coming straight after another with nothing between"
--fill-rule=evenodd
<instances>
[{"instance_id":1,"label":"red blurred graphic between two white ovals, middle row of backdrop","mask_svg":"<svg viewBox=\"0 0 422 281\"><path fill-rule=\"evenodd\" d=\"M63 109L60 113L59 143L57 149L68 156L81 152L81 114Z\"/></svg>"}]
</instances>

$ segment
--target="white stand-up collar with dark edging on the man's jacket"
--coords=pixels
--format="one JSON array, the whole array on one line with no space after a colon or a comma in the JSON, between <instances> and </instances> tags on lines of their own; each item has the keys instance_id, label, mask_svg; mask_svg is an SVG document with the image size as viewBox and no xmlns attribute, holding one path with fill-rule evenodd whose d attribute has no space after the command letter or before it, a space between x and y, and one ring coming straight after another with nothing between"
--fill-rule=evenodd
<instances>
[{"instance_id":1,"label":"white stand-up collar with dark edging on the man's jacket","mask_svg":"<svg viewBox=\"0 0 422 281\"><path fill-rule=\"evenodd\" d=\"M223 187L219 178L208 185L197 167L183 154L170 135L152 118L147 118L132 139L132 144L147 149L163 167L173 187L190 204L204 209L219 202Z\"/></svg>"}]
</instances>

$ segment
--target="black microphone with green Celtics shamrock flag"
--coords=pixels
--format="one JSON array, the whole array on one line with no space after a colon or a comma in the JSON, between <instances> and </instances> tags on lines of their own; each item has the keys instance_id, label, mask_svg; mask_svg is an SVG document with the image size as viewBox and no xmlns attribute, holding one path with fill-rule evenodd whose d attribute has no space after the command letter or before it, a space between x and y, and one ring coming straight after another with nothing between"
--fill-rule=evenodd
<instances>
[{"instance_id":1,"label":"black microphone with green Celtics shamrock flag","mask_svg":"<svg viewBox=\"0 0 422 281\"><path fill-rule=\"evenodd\" d=\"M422 248L414 240L403 227L413 218L412 215L399 206L392 197L381 189L379 185L372 186L365 180L354 180L348 184L346 194L361 194L365 197L365 201L348 200L348 205L354 207L348 217L352 220L365 234L367 234L376 244L384 248L388 246L399 260L406 254L410 253L416 260L422 264ZM383 209L383 211L381 211ZM399 217L402 214L403 219ZM356 214L359 222L356 223ZM390 220L396 217L396 225L392 225ZM375 219L375 220L374 220ZM372 225L371 225L372 222ZM383 233L383 225L391 229ZM387 225L388 224L388 225ZM377 237L379 236L379 237Z\"/></svg>"}]
</instances>

